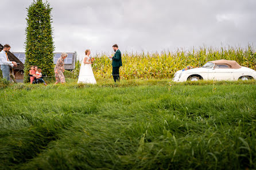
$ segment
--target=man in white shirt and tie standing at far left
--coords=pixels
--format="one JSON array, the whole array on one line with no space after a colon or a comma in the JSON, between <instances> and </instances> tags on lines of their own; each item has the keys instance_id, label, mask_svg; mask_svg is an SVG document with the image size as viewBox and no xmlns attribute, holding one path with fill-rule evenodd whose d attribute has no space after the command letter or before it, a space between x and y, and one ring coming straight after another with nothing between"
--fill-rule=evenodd
<instances>
[{"instance_id":1,"label":"man in white shirt and tie standing at far left","mask_svg":"<svg viewBox=\"0 0 256 170\"><path fill-rule=\"evenodd\" d=\"M10 67L17 66L15 61L10 61L7 53L10 51L10 45L6 44L3 46L3 50L0 52L0 65L3 72L3 78L10 81Z\"/></svg>"}]
</instances>

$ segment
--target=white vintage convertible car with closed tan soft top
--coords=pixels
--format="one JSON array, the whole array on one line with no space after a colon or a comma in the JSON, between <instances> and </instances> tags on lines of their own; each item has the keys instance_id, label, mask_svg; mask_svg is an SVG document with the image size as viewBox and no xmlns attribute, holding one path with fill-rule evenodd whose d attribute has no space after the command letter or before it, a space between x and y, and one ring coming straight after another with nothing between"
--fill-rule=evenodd
<instances>
[{"instance_id":1,"label":"white vintage convertible car with closed tan soft top","mask_svg":"<svg viewBox=\"0 0 256 170\"><path fill-rule=\"evenodd\" d=\"M256 80L256 71L239 65L236 61L209 61L201 68L179 70L174 74L173 81L198 80Z\"/></svg>"}]
</instances>

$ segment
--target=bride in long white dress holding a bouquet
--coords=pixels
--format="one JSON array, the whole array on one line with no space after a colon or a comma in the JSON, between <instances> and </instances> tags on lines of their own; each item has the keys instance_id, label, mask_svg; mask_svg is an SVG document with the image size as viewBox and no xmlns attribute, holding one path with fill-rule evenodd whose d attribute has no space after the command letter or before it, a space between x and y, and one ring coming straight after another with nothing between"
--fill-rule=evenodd
<instances>
[{"instance_id":1,"label":"bride in long white dress holding a bouquet","mask_svg":"<svg viewBox=\"0 0 256 170\"><path fill-rule=\"evenodd\" d=\"M90 50L86 50L86 56L83 58L77 83L96 84L94 72L92 72L90 54Z\"/></svg>"}]
</instances>

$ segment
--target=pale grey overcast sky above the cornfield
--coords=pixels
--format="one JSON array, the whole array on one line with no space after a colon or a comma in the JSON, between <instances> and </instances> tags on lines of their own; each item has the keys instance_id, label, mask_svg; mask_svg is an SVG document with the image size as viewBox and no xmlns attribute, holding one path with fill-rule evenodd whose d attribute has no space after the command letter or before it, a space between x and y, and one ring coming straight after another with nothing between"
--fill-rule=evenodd
<instances>
[{"instance_id":1,"label":"pale grey overcast sky above the cornfield","mask_svg":"<svg viewBox=\"0 0 256 170\"><path fill-rule=\"evenodd\" d=\"M25 52L26 7L1 0L0 44ZM45 2L45 1L44 1ZM255 0L49 0L55 52L110 53L256 44Z\"/></svg>"}]
</instances>

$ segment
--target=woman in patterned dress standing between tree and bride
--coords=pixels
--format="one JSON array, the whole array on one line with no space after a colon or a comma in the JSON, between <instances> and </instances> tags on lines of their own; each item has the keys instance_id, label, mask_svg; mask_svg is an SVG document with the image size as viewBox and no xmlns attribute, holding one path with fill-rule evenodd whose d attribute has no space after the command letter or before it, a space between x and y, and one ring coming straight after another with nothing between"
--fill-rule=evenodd
<instances>
[{"instance_id":1,"label":"woman in patterned dress standing between tree and bride","mask_svg":"<svg viewBox=\"0 0 256 170\"><path fill-rule=\"evenodd\" d=\"M68 54L67 53L61 53L61 57L59 58L59 60L57 61L57 64L54 68L55 71L55 78L56 78L56 82L55 84L61 82L62 84L65 83L65 77L64 77L64 60L65 58L67 58Z\"/></svg>"}]
</instances>

